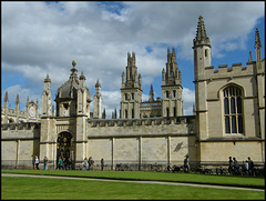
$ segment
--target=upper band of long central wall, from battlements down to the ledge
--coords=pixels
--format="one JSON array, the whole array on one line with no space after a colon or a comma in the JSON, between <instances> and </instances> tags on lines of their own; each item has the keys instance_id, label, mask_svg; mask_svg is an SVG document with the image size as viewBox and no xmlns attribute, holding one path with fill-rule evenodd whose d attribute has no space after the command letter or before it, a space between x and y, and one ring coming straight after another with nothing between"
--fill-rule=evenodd
<instances>
[{"instance_id":1,"label":"upper band of long central wall, from battlements down to the ledge","mask_svg":"<svg viewBox=\"0 0 266 201\"><path fill-rule=\"evenodd\" d=\"M88 139L168 138L195 135L195 115L88 120Z\"/></svg>"}]
</instances>

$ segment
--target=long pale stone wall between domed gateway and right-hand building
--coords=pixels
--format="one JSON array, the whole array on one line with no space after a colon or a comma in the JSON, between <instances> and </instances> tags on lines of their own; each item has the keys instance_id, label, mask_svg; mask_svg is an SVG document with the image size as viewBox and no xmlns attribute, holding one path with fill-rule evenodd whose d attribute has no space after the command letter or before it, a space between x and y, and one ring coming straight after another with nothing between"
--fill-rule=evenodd
<instances>
[{"instance_id":1,"label":"long pale stone wall between domed gateway and right-hand building","mask_svg":"<svg viewBox=\"0 0 266 201\"><path fill-rule=\"evenodd\" d=\"M88 152L95 164L126 163L133 169L145 164L182 164L184 157L196 160L195 117L135 120L89 120Z\"/></svg>"}]
</instances>

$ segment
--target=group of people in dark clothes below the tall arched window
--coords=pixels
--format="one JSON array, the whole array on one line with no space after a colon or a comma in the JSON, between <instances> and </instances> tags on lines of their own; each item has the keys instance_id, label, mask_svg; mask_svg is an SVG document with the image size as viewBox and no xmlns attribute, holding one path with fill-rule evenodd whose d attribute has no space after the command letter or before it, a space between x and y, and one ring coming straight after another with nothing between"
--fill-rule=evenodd
<instances>
[{"instance_id":1,"label":"group of people in dark clothes below the tall arched window","mask_svg":"<svg viewBox=\"0 0 266 201\"><path fill-rule=\"evenodd\" d=\"M229 163L229 167L228 167L229 174L241 174L241 171L243 174L247 174L247 175L254 174L254 162L250 159L250 157L248 157L246 161L243 161L242 165L239 165L235 157L233 158L233 160L232 160L232 157L229 157L228 163Z\"/></svg>"}]
</instances>

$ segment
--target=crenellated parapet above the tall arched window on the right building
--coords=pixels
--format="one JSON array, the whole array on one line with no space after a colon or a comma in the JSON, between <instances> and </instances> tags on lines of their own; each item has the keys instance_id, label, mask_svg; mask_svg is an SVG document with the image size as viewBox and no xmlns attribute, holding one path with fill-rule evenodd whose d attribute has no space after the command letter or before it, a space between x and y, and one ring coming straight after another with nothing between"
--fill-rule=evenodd
<instances>
[{"instance_id":1,"label":"crenellated parapet above the tall arched window on the right building","mask_svg":"<svg viewBox=\"0 0 266 201\"><path fill-rule=\"evenodd\" d=\"M241 76L252 76L254 74L254 69L256 67L256 61L249 61L246 67L242 63L233 63L232 67L228 64L218 66L218 70L215 70L214 66L205 68L205 79L219 79L228 77Z\"/></svg>"}]
</instances>

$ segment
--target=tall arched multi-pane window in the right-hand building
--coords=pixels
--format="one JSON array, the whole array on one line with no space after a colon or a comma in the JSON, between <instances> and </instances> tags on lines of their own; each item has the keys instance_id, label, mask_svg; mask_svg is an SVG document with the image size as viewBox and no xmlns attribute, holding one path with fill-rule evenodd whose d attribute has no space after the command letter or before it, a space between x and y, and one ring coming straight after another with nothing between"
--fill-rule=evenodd
<instances>
[{"instance_id":1,"label":"tall arched multi-pane window in the right-hand building","mask_svg":"<svg viewBox=\"0 0 266 201\"><path fill-rule=\"evenodd\" d=\"M227 87L224 89L225 133L244 133L242 89Z\"/></svg>"}]
</instances>

